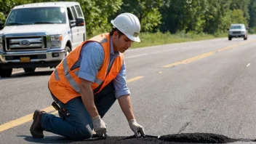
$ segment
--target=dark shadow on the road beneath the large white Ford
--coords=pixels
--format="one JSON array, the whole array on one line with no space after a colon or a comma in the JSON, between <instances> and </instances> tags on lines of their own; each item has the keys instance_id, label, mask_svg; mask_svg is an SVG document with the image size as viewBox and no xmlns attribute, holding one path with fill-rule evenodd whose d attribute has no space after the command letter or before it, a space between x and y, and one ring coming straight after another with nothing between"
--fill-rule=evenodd
<instances>
[{"instance_id":1,"label":"dark shadow on the road beneath the large white Ford","mask_svg":"<svg viewBox=\"0 0 256 144\"><path fill-rule=\"evenodd\" d=\"M25 72L20 72L20 73L15 73L12 74L12 76L10 77L6 77L6 78L1 78L1 79L17 79L17 78L23 78L26 76L50 76L52 74L53 71L35 71L35 72L31 72L31 73L25 73Z\"/></svg>"}]
</instances>

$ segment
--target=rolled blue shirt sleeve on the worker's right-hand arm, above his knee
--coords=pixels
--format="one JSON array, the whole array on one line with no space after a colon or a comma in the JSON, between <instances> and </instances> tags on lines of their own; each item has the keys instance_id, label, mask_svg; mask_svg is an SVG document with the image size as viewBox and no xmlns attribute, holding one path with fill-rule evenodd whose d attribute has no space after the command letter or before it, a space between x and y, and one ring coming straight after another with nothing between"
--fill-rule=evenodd
<instances>
[{"instance_id":1,"label":"rolled blue shirt sleeve on the worker's right-hand arm, above his knee","mask_svg":"<svg viewBox=\"0 0 256 144\"><path fill-rule=\"evenodd\" d=\"M127 87L127 78L125 73L125 61L123 65L121 66L121 71L119 71L119 74L116 76L115 79L113 79L113 86L116 90L116 98L119 98L123 95L128 95L131 92L129 92L129 88Z\"/></svg>"}]
</instances>

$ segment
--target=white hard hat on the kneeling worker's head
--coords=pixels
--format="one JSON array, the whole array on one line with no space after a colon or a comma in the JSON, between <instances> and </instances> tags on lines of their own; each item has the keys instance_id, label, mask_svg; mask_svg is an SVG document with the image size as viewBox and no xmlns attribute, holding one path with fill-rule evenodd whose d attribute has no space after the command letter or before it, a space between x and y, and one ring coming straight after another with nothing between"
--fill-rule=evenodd
<instances>
[{"instance_id":1,"label":"white hard hat on the kneeling worker's head","mask_svg":"<svg viewBox=\"0 0 256 144\"><path fill-rule=\"evenodd\" d=\"M125 34L130 40L140 42L140 21L131 13L122 13L115 20L111 20L112 25Z\"/></svg>"}]
</instances>

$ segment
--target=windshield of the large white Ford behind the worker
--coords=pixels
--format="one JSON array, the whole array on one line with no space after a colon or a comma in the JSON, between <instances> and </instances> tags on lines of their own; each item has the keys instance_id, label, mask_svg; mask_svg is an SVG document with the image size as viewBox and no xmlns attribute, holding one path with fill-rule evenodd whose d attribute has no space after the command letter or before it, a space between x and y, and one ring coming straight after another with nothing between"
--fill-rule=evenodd
<instances>
[{"instance_id":1,"label":"windshield of the large white Ford behind the worker","mask_svg":"<svg viewBox=\"0 0 256 144\"><path fill-rule=\"evenodd\" d=\"M6 25L31 25L66 23L65 8L35 7L14 9L10 13Z\"/></svg>"}]
</instances>

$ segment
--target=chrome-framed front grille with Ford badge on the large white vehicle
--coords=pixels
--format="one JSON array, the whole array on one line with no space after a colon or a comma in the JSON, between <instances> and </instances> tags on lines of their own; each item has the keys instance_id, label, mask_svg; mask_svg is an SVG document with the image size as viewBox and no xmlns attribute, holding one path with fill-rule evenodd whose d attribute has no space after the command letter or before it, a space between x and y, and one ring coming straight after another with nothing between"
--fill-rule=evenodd
<instances>
[{"instance_id":1,"label":"chrome-framed front grille with Ford badge on the large white vehicle","mask_svg":"<svg viewBox=\"0 0 256 144\"><path fill-rule=\"evenodd\" d=\"M34 34L34 33L33 33ZM36 51L36 50L46 50L50 47L49 36L43 35L33 36L33 34L24 33L12 36L4 37L5 51L7 52L17 52L17 51Z\"/></svg>"}]
</instances>

